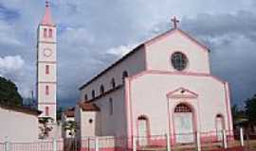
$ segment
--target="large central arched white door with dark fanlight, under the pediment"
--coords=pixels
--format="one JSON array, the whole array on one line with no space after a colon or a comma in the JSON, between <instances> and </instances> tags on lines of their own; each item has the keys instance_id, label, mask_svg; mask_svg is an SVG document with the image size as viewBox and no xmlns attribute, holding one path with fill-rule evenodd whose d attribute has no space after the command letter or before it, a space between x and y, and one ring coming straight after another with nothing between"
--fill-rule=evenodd
<instances>
[{"instance_id":1,"label":"large central arched white door with dark fanlight, under the pediment","mask_svg":"<svg viewBox=\"0 0 256 151\"><path fill-rule=\"evenodd\" d=\"M193 142L192 109L185 104L179 104L174 109L174 129L176 143Z\"/></svg>"}]
</instances>

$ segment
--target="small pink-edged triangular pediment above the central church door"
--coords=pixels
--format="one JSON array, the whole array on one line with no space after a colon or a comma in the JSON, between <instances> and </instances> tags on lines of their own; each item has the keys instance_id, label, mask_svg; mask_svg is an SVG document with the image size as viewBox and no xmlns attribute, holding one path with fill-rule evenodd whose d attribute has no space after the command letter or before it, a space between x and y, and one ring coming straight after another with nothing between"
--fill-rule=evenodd
<instances>
[{"instance_id":1,"label":"small pink-edged triangular pediment above the central church door","mask_svg":"<svg viewBox=\"0 0 256 151\"><path fill-rule=\"evenodd\" d=\"M172 92L168 92L168 98L197 98L198 94L185 88L178 88Z\"/></svg>"}]
</instances>

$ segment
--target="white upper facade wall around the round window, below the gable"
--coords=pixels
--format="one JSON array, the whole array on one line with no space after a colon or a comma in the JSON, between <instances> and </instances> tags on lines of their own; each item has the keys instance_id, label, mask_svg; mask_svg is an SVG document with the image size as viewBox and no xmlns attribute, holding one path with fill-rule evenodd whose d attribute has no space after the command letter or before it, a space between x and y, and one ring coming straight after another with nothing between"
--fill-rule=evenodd
<instances>
[{"instance_id":1,"label":"white upper facade wall around the round window, below the gable","mask_svg":"<svg viewBox=\"0 0 256 151\"><path fill-rule=\"evenodd\" d=\"M171 63L174 52L182 52L189 59L185 72L210 74L209 52L174 30L163 39L146 46L149 70L175 71Z\"/></svg>"}]
</instances>

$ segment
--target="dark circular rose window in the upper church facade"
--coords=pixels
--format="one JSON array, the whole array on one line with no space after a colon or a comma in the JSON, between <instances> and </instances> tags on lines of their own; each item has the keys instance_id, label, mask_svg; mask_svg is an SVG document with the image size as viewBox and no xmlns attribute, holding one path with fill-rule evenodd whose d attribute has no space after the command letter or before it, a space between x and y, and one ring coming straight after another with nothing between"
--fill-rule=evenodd
<instances>
[{"instance_id":1,"label":"dark circular rose window in the upper church facade","mask_svg":"<svg viewBox=\"0 0 256 151\"><path fill-rule=\"evenodd\" d=\"M187 67L188 59L187 57L181 52L175 52L172 55L172 65L174 69L178 71L182 71Z\"/></svg>"}]
</instances>

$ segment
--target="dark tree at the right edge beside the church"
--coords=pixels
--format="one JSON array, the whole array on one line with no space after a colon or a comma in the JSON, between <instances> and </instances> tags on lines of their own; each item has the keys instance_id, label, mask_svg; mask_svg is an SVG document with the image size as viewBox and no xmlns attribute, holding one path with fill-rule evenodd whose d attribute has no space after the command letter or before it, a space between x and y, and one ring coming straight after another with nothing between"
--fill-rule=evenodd
<instances>
[{"instance_id":1,"label":"dark tree at the right edge beside the church","mask_svg":"<svg viewBox=\"0 0 256 151\"><path fill-rule=\"evenodd\" d=\"M256 123L256 94L246 101L246 115L251 123Z\"/></svg>"}]
</instances>

